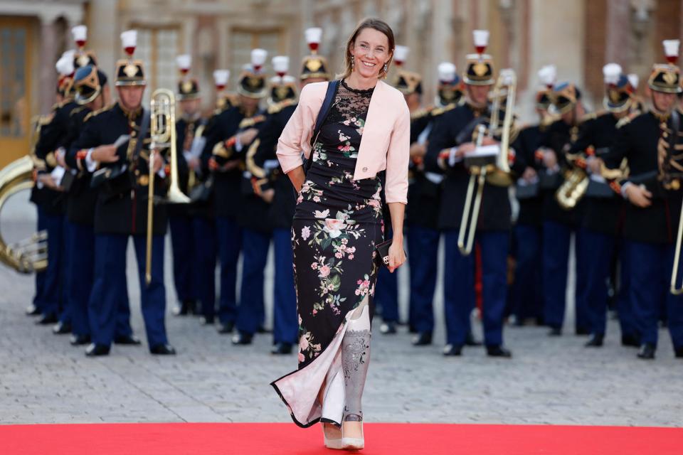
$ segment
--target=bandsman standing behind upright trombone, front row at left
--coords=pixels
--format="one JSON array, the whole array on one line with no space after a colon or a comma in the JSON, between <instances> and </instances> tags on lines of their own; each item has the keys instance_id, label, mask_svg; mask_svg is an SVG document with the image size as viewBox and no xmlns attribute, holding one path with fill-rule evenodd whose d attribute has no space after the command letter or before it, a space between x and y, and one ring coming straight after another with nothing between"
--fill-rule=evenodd
<instances>
[{"instance_id":1,"label":"bandsman standing behind upright trombone, front row at left","mask_svg":"<svg viewBox=\"0 0 683 455\"><path fill-rule=\"evenodd\" d=\"M142 107L146 85L144 66L134 60L134 31L122 33L128 58L116 65L118 101L94 112L85 121L83 133L72 145L76 156L85 162L92 185L99 186L95 205L95 283L88 310L92 343L86 355L107 355L115 338L117 309L126 296L126 246L134 243L140 282L142 316L152 354L174 354L166 337L164 314L164 233L166 209L154 204L152 225L152 269L146 283L145 250L149 166L154 176L154 194L166 195L164 159L150 150L149 112ZM146 118L147 117L147 118ZM146 130L146 131L145 131ZM150 163L151 162L151 163ZM126 343L129 344L129 343Z\"/></svg>"}]
</instances>

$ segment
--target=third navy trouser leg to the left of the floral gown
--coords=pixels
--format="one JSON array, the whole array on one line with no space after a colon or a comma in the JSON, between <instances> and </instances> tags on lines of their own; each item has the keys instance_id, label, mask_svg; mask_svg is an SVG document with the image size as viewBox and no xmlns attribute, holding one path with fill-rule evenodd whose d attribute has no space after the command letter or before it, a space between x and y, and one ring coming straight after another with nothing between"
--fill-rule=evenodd
<instances>
[{"instance_id":1,"label":"third navy trouser leg to the left of the floral gown","mask_svg":"<svg viewBox=\"0 0 683 455\"><path fill-rule=\"evenodd\" d=\"M233 323L237 319L237 262L242 250L242 228L231 218L216 217L218 255L221 259L221 299L218 319Z\"/></svg>"}]
</instances>

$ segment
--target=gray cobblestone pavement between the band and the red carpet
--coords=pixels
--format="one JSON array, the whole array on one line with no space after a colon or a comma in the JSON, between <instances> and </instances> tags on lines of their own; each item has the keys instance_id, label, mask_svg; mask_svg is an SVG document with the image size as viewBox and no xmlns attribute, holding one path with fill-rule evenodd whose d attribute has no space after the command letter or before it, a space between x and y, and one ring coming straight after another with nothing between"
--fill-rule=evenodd
<instances>
[{"instance_id":1,"label":"gray cobblestone pavement between the band and the red carpet","mask_svg":"<svg viewBox=\"0 0 683 455\"><path fill-rule=\"evenodd\" d=\"M4 221L4 233L30 226ZM128 253L132 325L144 339L130 247ZM167 251L169 278L170 272ZM401 278L405 283L405 270ZM270 355L270 335L235 347L229 336L196 318L169 314L169 338L179 355L154 357L145 344L113 346L109 357L90 359L67 336L24 316L33 277L2 267L0 289L2 424L290 421L269 382L293 370L296 358ZM272 289L272 261L266 289ZM174 291L168 284L166 291L170 308ZM401 297L405 315L405 287ZM512 360L489 359L482 348L444 358L441 306L438 299L433 346L414 348L405 328L396 336L374 331L364 395L369 422L683 425L683 362L674 359L665 331L653 362L637 360L634 349L620 346L613 321L602 349L587 350L586 338L569 334L549 338L545 328L506 327ZM570 315L566 327L572 325ZM478 325L475 330L481 333Z\"/></svg>"}]
</instances>

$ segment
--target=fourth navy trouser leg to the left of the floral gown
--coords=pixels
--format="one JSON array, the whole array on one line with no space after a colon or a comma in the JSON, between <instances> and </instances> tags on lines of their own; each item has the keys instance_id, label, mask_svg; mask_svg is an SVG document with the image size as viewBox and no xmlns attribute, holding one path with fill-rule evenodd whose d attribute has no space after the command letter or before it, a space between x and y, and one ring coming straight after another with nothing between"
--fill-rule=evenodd
<instances>
[{"instance_id":1,"label":"fourth navy trouser leg to the left of the floral gown","mask_svg":"<svg viewBox=\"0 0 683 455\"><path fill-rule=\"evenodd\" d=\"M192 219L194 257L192 283L194 295L201 302L201 314L213 319L216 314L216 224L208 218Z\"/></svg>"}]
</instances>

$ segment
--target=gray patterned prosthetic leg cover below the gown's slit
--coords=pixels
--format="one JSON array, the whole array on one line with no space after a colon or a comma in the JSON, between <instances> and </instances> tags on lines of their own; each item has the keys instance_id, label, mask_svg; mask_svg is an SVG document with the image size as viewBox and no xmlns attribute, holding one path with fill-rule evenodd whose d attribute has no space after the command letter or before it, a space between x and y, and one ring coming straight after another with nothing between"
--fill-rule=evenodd
<instances>
[{"instance_id":1,"label":"gray patterned prosthetic leg cover below the gown's slit","mask_svg":"<svg viewBox=\"0 0 683 455\"><path fill-rule=\"evenodd\" d=\"M359 306L349 321L342 339L342 369L346 404L344 421L359 422L363 419L361 397L370 364L370 316L367 304Z\"/></svg>"}]
</instances>

